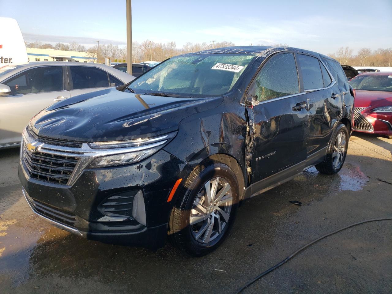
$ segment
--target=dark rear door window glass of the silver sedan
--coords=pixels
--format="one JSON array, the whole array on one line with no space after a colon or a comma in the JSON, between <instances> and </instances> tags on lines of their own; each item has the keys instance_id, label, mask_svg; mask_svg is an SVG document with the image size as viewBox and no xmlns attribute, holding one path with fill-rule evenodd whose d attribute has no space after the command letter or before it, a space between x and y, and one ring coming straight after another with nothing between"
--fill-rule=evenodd
<instances>
[{"instance_id":1,"label":"dark rear door window glass of the silver sedan","mask_svg":"<svg viewBox=\"0 0 392 294\"><path fill-rule=\"evenodd\" d=\"M96 67L70 66L73 88L89 89L109 87L107 72Z\"/></svg>"}]
</instances>

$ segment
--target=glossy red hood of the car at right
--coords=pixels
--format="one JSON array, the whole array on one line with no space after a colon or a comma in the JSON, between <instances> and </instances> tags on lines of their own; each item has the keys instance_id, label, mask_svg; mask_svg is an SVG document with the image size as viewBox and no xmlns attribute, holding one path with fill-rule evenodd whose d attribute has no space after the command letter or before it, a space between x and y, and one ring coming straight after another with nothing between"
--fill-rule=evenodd
<instances>
[{"instance_id":1,"label":"glossy red hood of the car at right","mask_svg":"<svg viewBox=\"0 0 392 294\"><path fill-rule=\"evenodd\" d=\"M392 92L355 90L354 107L380 107L392 104Z\"/></svg>"}]
</instances>

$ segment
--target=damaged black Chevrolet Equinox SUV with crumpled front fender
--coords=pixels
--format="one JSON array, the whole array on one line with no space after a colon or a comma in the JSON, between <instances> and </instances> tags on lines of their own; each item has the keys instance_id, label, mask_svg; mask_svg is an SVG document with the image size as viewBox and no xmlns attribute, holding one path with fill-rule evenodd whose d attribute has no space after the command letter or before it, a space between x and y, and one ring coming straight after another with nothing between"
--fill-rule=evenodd
<instances>
[{"instance_id":1,"label":"damaged black Chevrolet Equinox SUV with crumpled front fender","mask_svg":"<svg viewBox=\"0 0 392 294\"><path fill-rule=\"evenodd\" d=\"M131 83L58 102L23 134L31 209L92 240L200 256L238 203L312 165L338 172L354 93L339 63L290 47L166 60Z\"/></svg>"}]
</instances>

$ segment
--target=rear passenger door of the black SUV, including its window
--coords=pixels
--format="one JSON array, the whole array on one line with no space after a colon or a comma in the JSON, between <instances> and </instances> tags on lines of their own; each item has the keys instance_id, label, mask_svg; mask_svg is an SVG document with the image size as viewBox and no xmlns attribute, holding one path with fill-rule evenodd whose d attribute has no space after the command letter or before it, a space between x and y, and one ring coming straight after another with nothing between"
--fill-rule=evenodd
<instances>
[{"instance_id":1,"label":"rear passenger door of the black SUV, including its window","mask_svg":"<svg viewBox=\"0 0 392 294\"><path fill-rule=\"evenodd\" d=\"M307 163L312 165L325 155L332 129L341 113L339 89L316 56L298 53L303 89L309 103Z\"/></svg>"}]
</instances>

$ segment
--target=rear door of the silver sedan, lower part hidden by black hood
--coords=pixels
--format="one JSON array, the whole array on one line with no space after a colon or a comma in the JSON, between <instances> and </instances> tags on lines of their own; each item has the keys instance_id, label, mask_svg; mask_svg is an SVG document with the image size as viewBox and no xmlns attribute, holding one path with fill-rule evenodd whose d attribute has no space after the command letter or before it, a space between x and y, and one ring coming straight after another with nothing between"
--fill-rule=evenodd
<instances>
[{"instance_id":1,"label":"rear door of the silver sedan, lower part hidden by black hood","mask_svg":"<svg viewBox=\"0 0 392 294\"><path fill-rule=\"evenodd\" d=\"M110 87L109 75L103 69L77 65L69 65L67 69L71 97Z\"/></svg>"}]
</instances>

